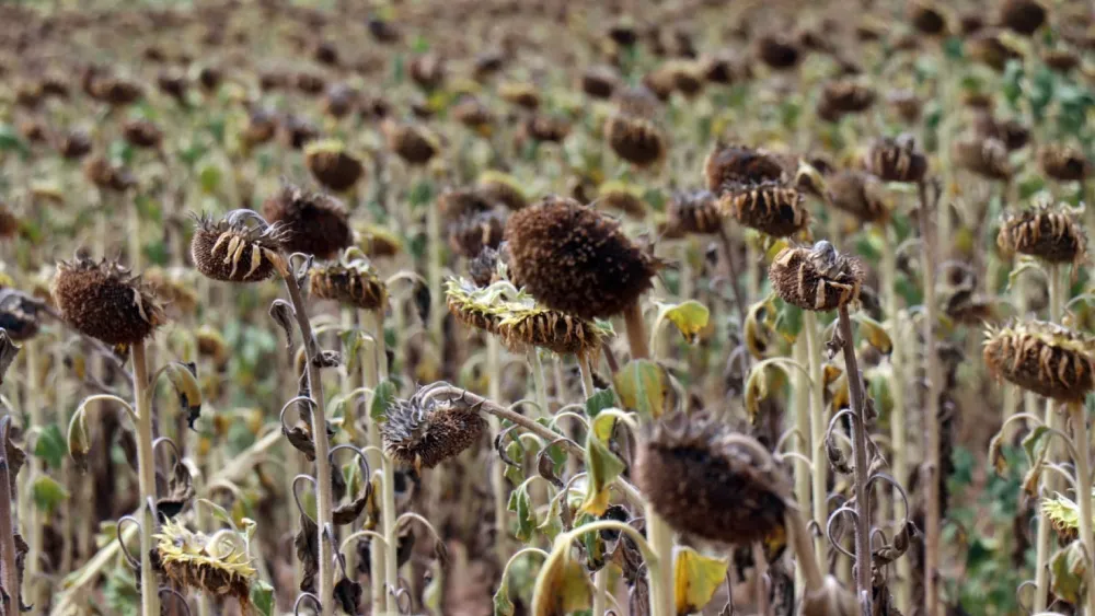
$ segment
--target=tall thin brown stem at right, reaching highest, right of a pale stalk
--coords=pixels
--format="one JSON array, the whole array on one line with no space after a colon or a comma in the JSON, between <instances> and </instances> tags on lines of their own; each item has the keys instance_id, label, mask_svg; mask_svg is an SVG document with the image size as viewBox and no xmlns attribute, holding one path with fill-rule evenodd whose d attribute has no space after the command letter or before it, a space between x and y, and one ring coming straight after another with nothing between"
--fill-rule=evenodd
<instances>
[{"instance_id":1,"label":"tall thin brown stem at right, reaching highest, right of a pale stalk","mask_svg":"<svg viewBox=\"0 0 1095 616\"><path fill-rule=\"evenodd\" d=\"M920 196L920 236L923 257L924 284L924 361L927 362L927 392L924 400L924 423L926 423L925 462L921 472L921 485L927 486L926 522L924 524L924 601L927 616L938 616L940 593L937 577L940 568L940 391L943 372L935 350L935 323L937 304L935 301L935 233L933 217L927 198L927 183L917 185Z\"/></svg>"}]
</instances>

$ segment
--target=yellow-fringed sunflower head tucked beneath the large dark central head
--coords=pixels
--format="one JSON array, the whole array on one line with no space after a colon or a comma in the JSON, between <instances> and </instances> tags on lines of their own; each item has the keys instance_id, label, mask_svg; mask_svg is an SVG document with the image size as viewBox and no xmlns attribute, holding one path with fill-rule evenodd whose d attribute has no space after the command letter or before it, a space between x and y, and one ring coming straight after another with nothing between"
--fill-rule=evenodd
<instances>
[{"instance_id":1,"label":"yellow-fringed sunflower head tucked beneath the large dark central head","mask_svg":"<svg viewBox=\"0 0 1095 616\"><path fill-rule=\"evenodd\" d=\"M540 347L560 355L587 357L612 335L611 328L537 303L502 280L480 288L462 278L449 279L446 299L459 321L498 336L512 351Z\"/></svg>"}]
</instances>

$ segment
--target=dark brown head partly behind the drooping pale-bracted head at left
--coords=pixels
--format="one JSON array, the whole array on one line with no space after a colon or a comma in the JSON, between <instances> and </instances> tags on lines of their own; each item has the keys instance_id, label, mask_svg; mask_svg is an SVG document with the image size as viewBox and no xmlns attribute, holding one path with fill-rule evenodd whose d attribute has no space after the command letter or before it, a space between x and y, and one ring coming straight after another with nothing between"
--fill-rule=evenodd
<instances>
[{"instance_id":1,"label":"dark brown head partly behind the drooping pale-bracted head at left","mask_svg":"<svg viewBox=\"0 0 1095 616\"><path fill-rule=\"evenodd\" d=\"M346 206L331 195L286 183L263 204L263 214L284 228L281 247L288 253L328 259L353 242Z\"/></svg>"}]
</instances>

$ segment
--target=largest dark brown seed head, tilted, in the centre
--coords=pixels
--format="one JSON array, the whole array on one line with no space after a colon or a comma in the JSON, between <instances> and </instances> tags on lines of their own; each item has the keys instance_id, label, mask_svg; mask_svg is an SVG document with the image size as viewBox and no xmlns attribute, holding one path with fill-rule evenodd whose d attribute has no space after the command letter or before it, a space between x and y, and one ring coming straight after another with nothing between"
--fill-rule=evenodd
<instances>
[{"instance_id":1,"label":"largest dark brown seed head, tilted, in the centre","mask_svg":"<svg viewBox=\"0 0 1095 616\"><path fill-rule=\"evenodd\" d=\"M658 261L613 221L574 199L548 197L506 224L510 266L538 301L581 318L623 312L650 288Z\"/></svg>"}]
</instances>

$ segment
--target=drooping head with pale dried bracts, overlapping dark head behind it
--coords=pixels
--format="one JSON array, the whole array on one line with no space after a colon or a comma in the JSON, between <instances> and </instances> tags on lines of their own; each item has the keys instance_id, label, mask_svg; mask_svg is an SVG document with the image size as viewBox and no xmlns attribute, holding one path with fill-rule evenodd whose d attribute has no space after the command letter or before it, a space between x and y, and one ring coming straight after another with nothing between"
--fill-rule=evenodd
<instances>
[{"instance_id":1,"label":"drooping head with pale dried bracts, overlapping dark head behind it","mask_svg":"<svg viewBox=\"0 0 1095 616\"><path fill-rule=\"evenodd\" d=\"M191 240L194 267L206 278L226 282L262 282L286 269L280 243L285 230L278 225L247 225L243 211L215 221L200 217Z\"/></svg>"}]
</instances>

